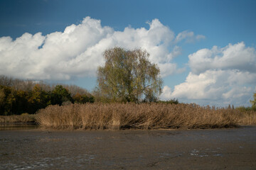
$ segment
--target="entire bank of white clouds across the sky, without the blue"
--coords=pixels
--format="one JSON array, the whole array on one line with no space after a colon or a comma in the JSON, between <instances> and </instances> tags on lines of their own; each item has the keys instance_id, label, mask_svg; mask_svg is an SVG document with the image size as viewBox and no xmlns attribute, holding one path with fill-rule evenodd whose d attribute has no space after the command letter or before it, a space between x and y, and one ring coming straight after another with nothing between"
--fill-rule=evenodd
<instances>
[{"instance_id":1,"label":"entire bank of white clouds across the sky, without the blue","mask_svg":"<svg viewBox=\"0 0 256 170\"><path fill-rule=\"evenodd\" d=\"M97 67L104 64L103 52L110 47L132 50L141 47L150 54L151 62L159 65L161 76L185 71L173 62L181 55L179 42L196 42L204 35L185 30L175 35L158 19L149 28L123 31L102 26L100 20L84 18L63 32L48 35L24 33L13 40L0 38L0 73L20 79L68 80L72 77L95 77ZM256 54L244 42L226 47L214 46L188 55L186 81L164 86L161 98L178 98L183 102L201 104L244 105L256 90Z\"/></svg>"}]
</instances>

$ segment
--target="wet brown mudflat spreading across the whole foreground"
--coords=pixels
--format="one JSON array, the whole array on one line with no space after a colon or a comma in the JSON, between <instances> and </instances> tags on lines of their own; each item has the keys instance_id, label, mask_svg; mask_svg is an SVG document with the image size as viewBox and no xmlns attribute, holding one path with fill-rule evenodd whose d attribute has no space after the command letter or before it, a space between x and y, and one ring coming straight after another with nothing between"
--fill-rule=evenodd
<instances>
[{"instance_id":1,"label":"wet brown mudflat spreading across the whole foreground","mask_svg":"<svg viewBox=\"0 0 256 170\"><path fill-rule=\"evenodd\" d=\"M0 130L0 169L256 169L256 126Z\"/></svg>"}]
</instances>

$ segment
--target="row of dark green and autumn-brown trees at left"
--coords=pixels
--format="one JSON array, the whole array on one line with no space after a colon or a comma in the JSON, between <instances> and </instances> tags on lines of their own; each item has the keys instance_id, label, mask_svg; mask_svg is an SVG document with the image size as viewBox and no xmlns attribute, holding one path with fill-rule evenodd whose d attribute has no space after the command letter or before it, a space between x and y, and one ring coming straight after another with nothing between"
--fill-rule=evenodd
<instances>
[{"instance_id":1,"label":"row of dark green and autumn-brown trees at left","mask_svg":"<svg viewBox=\"0 0 256 170\"><path fill-rule=\"evenodd\" d=\"M49 105L65 105L74 101L93 103L95 98L75 85L54 86L43 81L23 81L0 75L0 115L33 114Z\"/></svg>"}]
</instances>

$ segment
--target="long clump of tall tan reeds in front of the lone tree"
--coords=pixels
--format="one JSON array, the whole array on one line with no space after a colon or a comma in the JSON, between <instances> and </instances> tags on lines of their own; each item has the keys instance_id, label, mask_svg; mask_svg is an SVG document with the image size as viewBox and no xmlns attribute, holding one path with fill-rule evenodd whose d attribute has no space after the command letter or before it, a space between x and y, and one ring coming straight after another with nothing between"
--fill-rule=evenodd
<instances>
[{"instance_id":1,"label":"long clump of tall tan reeds in front of the lone tree","mask_svg":"<svg viewBox=\"0 0 256 170\"><path fill-rule=\"evenodd\" d=\"M238 127L247 121L242 115L236 109L184 103L86 103L48 106L38 111L36 120L55 130L204 129Z\"/></svg>"}]
</instances>

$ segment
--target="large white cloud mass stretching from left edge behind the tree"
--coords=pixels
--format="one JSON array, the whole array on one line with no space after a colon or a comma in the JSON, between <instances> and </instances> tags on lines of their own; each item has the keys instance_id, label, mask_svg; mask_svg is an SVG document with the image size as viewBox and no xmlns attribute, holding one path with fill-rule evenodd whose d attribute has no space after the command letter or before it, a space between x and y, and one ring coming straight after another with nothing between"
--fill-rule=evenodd
<instances>
[{"instance_id":1,"label":"large white cloud mass stretching from left edge behind the tree","mask_svg":"<svg viewBox=\"0 0 256 170\"><path fill-rule=\"evenodd\" d=\"M178 36L186 39L201 35ZM183 70L171 62L181 54L175 40L174 32L158 19L149 23L149 29L129 26L115 31L102 26L100 20L86 17L63 32L46 36L24 33L16 40L0 38L0 74L51 80L95 76L97 67L104 63L104 50L118 46L127 50L141 47L149 52L152 62L159 64L162 76L168 76Z\"/></svg>"}]
</instances>

